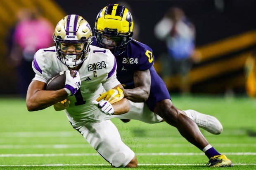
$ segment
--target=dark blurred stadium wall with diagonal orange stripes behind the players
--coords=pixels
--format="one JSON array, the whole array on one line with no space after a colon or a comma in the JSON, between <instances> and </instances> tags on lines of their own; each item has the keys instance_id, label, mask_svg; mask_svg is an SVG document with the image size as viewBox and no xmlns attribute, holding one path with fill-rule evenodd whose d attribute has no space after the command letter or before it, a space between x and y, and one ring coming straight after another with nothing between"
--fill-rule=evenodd
<instances>
[{"instance_id":1,"label":"dark blurred stadium wall with diagonal orange stripes behind the players","mask_svg":"<svg viewBox=\"0 0 256 170\"><path fill-rule=\"evenodd\" d=\"M216 2L218 0L215 0ZM124 0L130 4L135 21L140 26L139 40L149 45L156 57L155 67L161 71L159 54L166 50L164 42L154 37L153 29L169 7L181 7L194 23L196 45L201 60L190 73L192 93L224 94L231 89L244 93L244 61L256 44L255 0L220 0L219 10L214 0ZM0 94L15 94L14 70L6 62L9 50L5 43L8 30L15 24L14 14L21 7L37 6L55 26L66 14L79 14L94 27L95 17L102 7L120 1L100 0L2 0L0 5ZM167 84L171 92L177 91Z\"/></svg>"}]
</instances>

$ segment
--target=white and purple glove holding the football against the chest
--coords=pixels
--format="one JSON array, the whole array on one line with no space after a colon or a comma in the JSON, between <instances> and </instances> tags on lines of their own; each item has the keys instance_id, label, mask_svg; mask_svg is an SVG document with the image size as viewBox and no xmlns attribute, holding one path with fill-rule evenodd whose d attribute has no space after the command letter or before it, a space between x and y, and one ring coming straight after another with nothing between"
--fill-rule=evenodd
<instances>
[{"instance_id":1,"label":"white and purple glove holding the football against the chest","mask_svg":"<svg viewBox=\"0 0 256 170\"><path fill-rule=\"evenodd\" d=\"M68 93L68 96L74 95L81 85L81 79L77 71L75 77L70 75L70 70L66 70L66 82L65 82L65 91Z\"/></svg>"}]
</instances>

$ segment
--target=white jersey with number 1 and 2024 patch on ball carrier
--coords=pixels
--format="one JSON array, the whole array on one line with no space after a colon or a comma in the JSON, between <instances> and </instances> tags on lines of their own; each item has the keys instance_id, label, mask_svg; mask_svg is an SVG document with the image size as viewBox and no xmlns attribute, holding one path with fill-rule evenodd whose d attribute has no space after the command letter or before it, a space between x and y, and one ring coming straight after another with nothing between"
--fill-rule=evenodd
<instances>
[{"instance_id":1,"label":"white jersey with number 1 and 2024 patch on ball carrier","mask_svg":"<svg viewBox=\"0 0 256 170\"><path fill-rule=\"evenodd\" d=\"M40 49L36 52L32 68L36 73L33 80L47 83L58 72L68 70L68 67L59 61L55 47ZM120 82L116 78L116 60L108 50L90 46L88 58L78 70L81 86L75 95L69 96L70 105L66 114L71 123L84 121L102 121L106 116L92 104L100 93L114 88Z\"/></svg>"}]
</instances>

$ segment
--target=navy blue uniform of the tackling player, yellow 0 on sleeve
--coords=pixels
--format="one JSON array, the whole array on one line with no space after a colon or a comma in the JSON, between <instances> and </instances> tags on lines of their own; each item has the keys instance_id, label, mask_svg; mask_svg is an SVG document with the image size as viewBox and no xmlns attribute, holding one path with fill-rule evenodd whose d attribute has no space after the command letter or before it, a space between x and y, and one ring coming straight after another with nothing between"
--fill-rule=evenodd
<instances>
[{"instance_id":1,"label":"navy blue uniform of the tackling player, yellow 0 on sleeve","mask_svg":"<svg viewBox=\"0 0 256 170\"><path fill-rule=\"evenodd\" d=\"M95 37L93 37L92 45L99 46ZM133 81L135 70L144 71L149 69L151 87L147 105L151 111L153 111L157 102L164 99L171 99L164 81L159 77L153 67L154 55L152 49L147 45L131 40L127 45L126 51L116 56L116 64L117 79L124 88L128 89L135 88Z\"/></svg>"}]
</instances>

